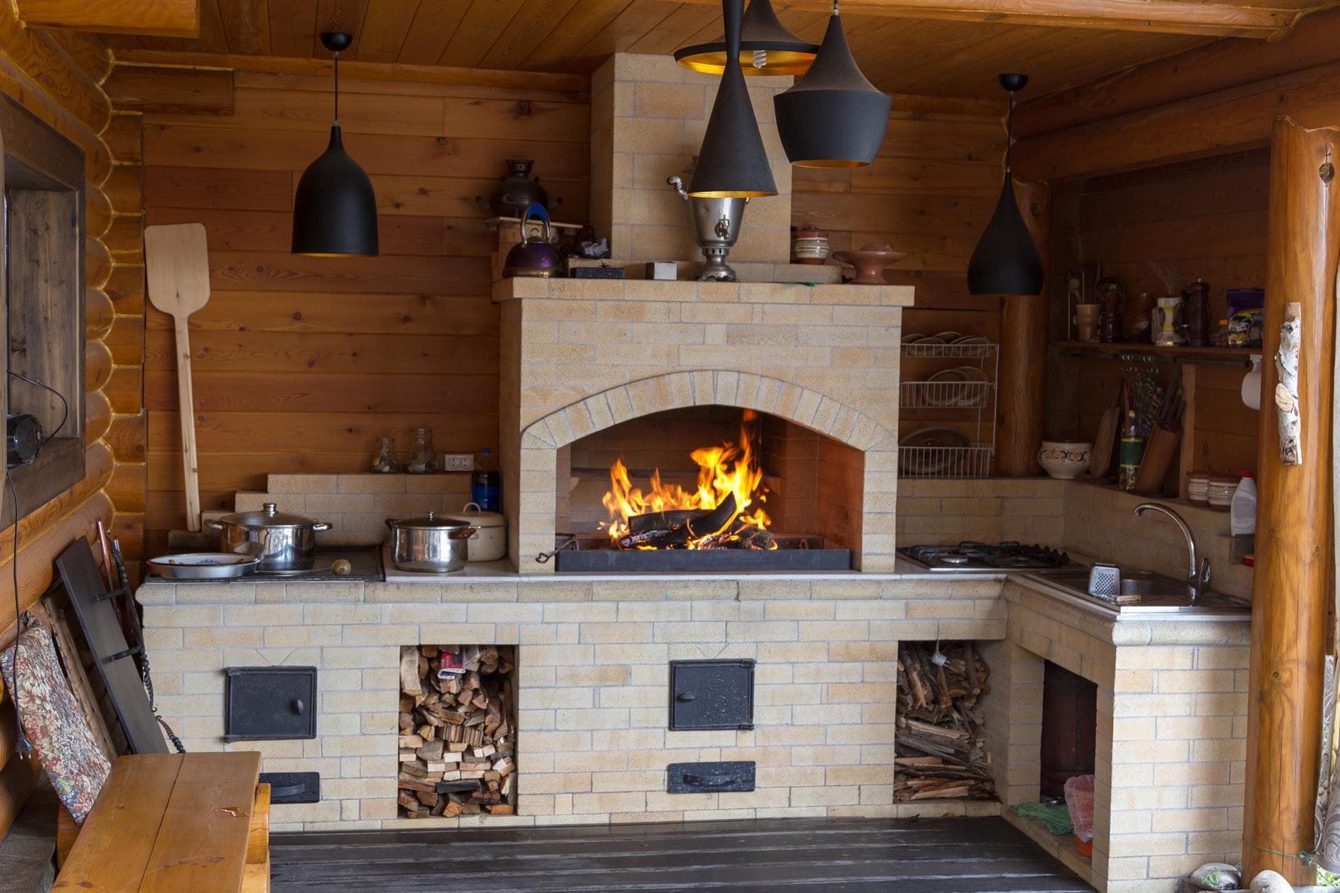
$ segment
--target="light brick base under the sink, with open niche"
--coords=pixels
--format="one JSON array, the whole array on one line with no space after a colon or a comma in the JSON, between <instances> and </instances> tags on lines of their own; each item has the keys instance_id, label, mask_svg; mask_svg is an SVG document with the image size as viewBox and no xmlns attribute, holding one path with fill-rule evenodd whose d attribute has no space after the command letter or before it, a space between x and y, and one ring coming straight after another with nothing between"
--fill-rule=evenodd
<instances>
[{"instance_id":1,"label":"light brick base under the sink, with open niche","mask_svg":"<svg viewBox=\"0 0 1340 893\"><path fill-rule=\"evenodd\" d=\"M1037 798L1041 661L1051 660L1097 684L1093 857L1067 862L1107 893L1171 893L1203 862L1237 861L1248 617L1115 621L1018 582L1004 594L1008 641L988 653L993 681L1008 688L993 688L1005 696L988 728L1005 802Z\"/></svg>"}]
</instances>

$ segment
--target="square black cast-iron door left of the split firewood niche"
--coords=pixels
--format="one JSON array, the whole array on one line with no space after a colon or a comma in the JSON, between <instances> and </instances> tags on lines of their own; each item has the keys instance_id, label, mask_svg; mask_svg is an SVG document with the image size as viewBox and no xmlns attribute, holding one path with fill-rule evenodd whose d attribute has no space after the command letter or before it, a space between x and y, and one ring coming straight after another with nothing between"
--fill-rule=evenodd
<instances>
[{"instance_id":1,"label":"square black cast-iron door left of the split firewood niche","mask_svg":"<svg viewBox=\"0 0 1340 893\"><path fill-rule=\"evenodd\" d=\"M229 667L224 740L316 738L316 667Z\"/></svg>"}]
</instances>

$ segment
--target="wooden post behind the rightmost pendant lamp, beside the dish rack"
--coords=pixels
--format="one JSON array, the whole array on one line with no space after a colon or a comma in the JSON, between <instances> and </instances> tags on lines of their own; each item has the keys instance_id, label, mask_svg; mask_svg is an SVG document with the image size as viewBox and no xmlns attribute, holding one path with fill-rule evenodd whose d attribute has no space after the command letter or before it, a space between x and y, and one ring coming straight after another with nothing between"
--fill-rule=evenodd
<instances>
[{"instance_id":1,"label":"wooden post behind the rightmost pendant lamp, beside the dish rack","mask_svg":"<svg viewBox=\"0 0 1340 893\"><path fill-rule=\"evenodd\" d=\"M1048 264L1052 187L1049 183L1014 183L1014 195L1028 232ZM1047 410L1047 288L1043 295L1001 297L1000 418L996 426L996 471L1010 477L1040 474L1037 450L1043 444Z\"/></svg>"}]
</instances>

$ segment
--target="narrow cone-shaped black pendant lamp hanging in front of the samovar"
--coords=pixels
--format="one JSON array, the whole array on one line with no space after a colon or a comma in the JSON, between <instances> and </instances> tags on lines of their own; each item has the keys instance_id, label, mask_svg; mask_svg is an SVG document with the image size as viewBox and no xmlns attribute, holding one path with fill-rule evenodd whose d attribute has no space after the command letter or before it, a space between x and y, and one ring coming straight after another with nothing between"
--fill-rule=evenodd
<instances>
[{"instance_id":1,"label":"narrow cone-shaped black pendant lamp hanging in front of the samovar","mask_svg":"<svg viewBox=\"0 0 1340 893\"><path fill-rule=\"evenodd\" d=\"M689 194L701 198L757 198L776 195L777 183L762 147L758 119L740 70L740 20L745 0L722 0L726 19L726 67L702 137Z\"/></svg>"}]
</instances>

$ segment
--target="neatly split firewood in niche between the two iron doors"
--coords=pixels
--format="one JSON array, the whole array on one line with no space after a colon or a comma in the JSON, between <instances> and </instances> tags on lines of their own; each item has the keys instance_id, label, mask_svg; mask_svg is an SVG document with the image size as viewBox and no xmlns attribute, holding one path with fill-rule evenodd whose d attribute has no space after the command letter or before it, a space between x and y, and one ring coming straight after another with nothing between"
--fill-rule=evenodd
<instances>
[{"instance_id":1,"label":"neatly split firewood in niche between the two iron doors","mask_svg":"<svg viewBox=\"0 0 1340 893\"><path fill-rule=\"evenodd\" d=\"M401 648L401 815L516 810L516 655L509 645Z\"/></svg>"}]
</instances>

